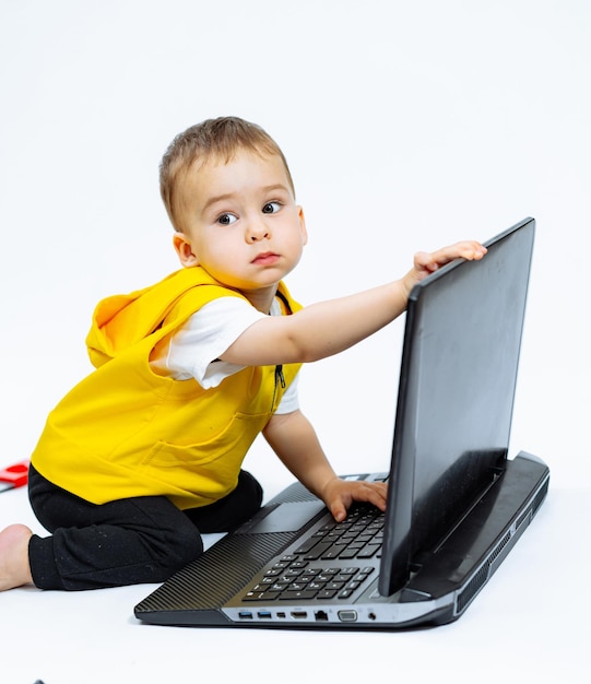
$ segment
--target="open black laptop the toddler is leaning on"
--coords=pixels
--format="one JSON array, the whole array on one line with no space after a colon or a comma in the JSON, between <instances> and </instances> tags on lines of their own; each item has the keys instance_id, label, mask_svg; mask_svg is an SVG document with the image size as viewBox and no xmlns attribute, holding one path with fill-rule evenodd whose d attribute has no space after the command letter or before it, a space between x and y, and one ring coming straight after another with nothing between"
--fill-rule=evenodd
<instances>
[{"instance_id":1,"label":"open black laptop the toddler is leaning on","mask_svg":"<svg viewBox=\"0 0 591 684\"><path fill-rule=\"evenodd\" d=\"M295 483L134 609L156 625L398 629L460 617L530 524L547 465L508 458L535 221L417 284L386 512L336 523ZM386 460L386 459L385 459Z\"/></svg>"}]
</instances>

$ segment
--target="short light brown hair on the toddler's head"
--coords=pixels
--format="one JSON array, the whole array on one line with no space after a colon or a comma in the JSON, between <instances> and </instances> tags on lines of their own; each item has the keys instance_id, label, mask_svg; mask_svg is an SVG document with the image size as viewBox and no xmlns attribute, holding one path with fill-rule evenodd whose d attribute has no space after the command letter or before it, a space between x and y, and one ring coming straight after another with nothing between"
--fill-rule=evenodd
<instances>
[{"instance_id":1,"label":"short light brown hair on the toddler's head","mask_svg":"<svg viewBox=\"0 0 591 684\"><path fill-rule=\"evenodd\" d=\"M159 167L161 196L175 229L182 232L177 221L179 179L201 160L201 165L211 157L228 163L236 152L248 150L259 155L276 154L285 165L287 179L295 196L294 181L283 152L277 143L256 123L238 117L208 119L179 133L164 154Z\"/></svg>"}]
</instances>

